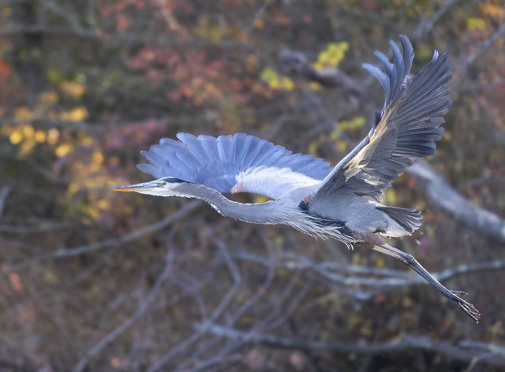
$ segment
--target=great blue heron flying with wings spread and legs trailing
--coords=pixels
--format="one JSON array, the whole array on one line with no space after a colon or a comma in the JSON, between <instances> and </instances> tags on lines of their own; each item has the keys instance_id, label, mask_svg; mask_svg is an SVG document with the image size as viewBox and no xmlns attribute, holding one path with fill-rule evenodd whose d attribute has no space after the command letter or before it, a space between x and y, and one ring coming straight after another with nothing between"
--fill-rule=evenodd
<instances>
[{"instance_id":1,"label":"great blue heron flying with wings spread and legs trailing","mask_svg":"<svg viewBox=\"0 0 505 372\"><path fill-rule=\"evenodd\" d=\"M440 284L416 259L385 243L381 237L410 235L421 223L421 212L382 205L382 190L412 165L413 158L432 155L440 140L442 115L451 103L451 75L445 52L418 75L410 74L414 52L400 36L403 53L393 41L393 63L375 52L384 72L364 64L382 85L384 106L368 135L335 167L311 155L292 154L284 147L238 133L217 138L187 133L179 141L160 140L142 155L150 164L138 168L155 181L123 186L161 196L203 199L221 215L256 224L285 224L348 247L364 246L396 257L437 288L476 322L477 309ZM265 203L243 204L223 193L252 192L268 196Z\"/></svg>"}]
</instances>

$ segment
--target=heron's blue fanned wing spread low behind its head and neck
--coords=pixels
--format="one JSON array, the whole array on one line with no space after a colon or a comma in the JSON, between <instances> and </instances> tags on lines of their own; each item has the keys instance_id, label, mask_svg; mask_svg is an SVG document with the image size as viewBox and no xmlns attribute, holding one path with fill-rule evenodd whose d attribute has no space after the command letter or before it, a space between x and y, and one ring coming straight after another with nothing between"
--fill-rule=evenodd
<instances>
[{"instance_id":1,"label":"heron's blue fanned wing spread low behind its head and neck","mask_svg":"<svg viewBox=\"0 0 505 372\"><path fill-rule=\"evenodd\" d=\"M176 177L222 193L254 192L278 199L321 182L331 168L320 158L294 154L255 136L162 138L141 154L150 164L137 167L156 178Z\"/></svg>"}]
</instances>

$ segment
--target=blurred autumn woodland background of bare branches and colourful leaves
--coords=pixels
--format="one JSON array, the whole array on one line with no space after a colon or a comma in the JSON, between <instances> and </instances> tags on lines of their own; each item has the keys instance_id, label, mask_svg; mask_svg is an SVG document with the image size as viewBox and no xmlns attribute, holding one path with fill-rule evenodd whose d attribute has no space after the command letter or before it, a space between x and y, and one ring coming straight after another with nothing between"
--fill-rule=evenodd
<instances>
[{"instance_id":1,"label":"blurred autumn woodland background of bare branches and colourful leaves","mask_svg":"<svg viewBox=\"0 0 505 372\"><path fill-rule=\"evenodd\" d=\"M112 191L179 131L336 164L399 34L414 73L447 51L453 103L385 193L424 215L391 244L478 324L380 253ZM505 370L504 37L501 0L1 0L0 370Z\"/></svg>"}]
</instances>

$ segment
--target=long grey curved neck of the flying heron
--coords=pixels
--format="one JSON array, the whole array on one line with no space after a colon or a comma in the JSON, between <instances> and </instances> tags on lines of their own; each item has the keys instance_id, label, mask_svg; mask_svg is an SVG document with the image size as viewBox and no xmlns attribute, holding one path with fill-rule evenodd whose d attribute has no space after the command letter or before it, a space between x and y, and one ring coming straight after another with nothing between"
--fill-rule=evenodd
<instances>
[{"instance_id":1,"label":"long grey curved neck of the flying heron","mask_svg":"<svg viewBox=\"0 0 505 372\"><path fill-rule=\"evenodd\" d=\"M191 184L179 196L195 197L211 204L223 216L255 224L288 224L290 218L297 214L287 200L271 200L266 203L243 204L225 198L219 191L212 188ZM292 215L292 216L291 216Z\"/></svg>"}]
</instances>

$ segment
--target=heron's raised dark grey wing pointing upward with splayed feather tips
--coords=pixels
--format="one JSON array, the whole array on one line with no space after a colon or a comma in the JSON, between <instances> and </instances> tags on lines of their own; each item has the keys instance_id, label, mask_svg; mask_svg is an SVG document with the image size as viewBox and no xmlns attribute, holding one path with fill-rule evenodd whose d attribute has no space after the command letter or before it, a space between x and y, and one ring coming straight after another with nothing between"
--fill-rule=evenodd
<instances>
[{"instance_id":1,"label":"heron's raised dark grey wing pointing upward with splayed feather tips","mask_svg":"<svg viewBox=\"0 0 505 372\"><path fill-rule=\"evenodd\" d=\"M381 190L412 165L412 159L432 155L444 122L442 115L451 103L451 75L444 52L433 59L417 76L409 74L414 58L412 44L401 35L403 56L391 41L394 62L380 51L375 56L384 72L375 66L363 65L374 75L385 92L380 121L372 126L361 143L338 163L316 188L315 194L328 194L348 187L360 196L381 201ZM314 195L315 196L315 195Z\"/></svg>"}]
</instances>

